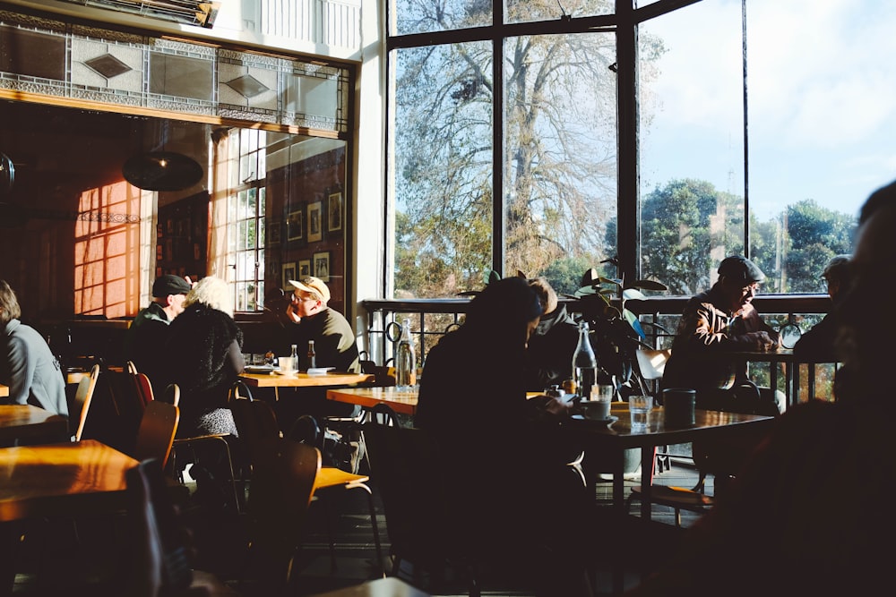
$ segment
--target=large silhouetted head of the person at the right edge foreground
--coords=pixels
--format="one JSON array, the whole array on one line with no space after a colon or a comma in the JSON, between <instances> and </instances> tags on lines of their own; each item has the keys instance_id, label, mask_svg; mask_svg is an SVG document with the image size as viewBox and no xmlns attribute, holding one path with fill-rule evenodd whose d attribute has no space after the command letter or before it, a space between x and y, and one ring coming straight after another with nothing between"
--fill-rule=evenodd
<instances>
[{"instance_id":1,"label":"large silhouetted head of the person at the right edge foreground","mask_svg":"<svg viewBox=\"0 0 896 597\"><path fill-rule=\"evenodd\" d=\"M889 315L896 294L893 230L896 182L872 193L862 206L855 251L849 260L852 283L837 306L841 328L836 348L844 363L838 371L838 385L843 372L849 397L878 395L881 376L892 369L891 351L882 349L881 343L891 342L896 334L896 319Z\"/></svg>"}]
</instances>

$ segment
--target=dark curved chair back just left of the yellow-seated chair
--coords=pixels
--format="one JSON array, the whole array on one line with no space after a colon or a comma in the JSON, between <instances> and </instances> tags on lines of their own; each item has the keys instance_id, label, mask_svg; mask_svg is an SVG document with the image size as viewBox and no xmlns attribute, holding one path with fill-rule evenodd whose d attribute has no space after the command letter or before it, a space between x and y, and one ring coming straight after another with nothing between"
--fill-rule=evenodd
<instances>
[{"instance_id":1,"label":"dark curved chair back just left of the yellow-seated chair","mask_svg":"<svg viewBox=\"0 0 896 597\"><path fill-rule=\"evenodd\" d=\"M269 585L271 594L280 594L292 579L314 480L321 470L321 452L284 438L265 446L266 453L255 463L249 485L249 545L241 576Z\"/></svg>"}]
</instances>

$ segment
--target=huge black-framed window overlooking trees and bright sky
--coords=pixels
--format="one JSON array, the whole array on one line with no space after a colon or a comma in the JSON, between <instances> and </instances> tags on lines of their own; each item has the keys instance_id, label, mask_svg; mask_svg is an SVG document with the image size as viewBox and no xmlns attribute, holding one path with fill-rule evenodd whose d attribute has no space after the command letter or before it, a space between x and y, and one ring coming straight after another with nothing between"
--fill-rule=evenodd
<instances>
[{"instance_id":1,"label":"huge black-framed window overlooking trees and bright sky","mask_svg":"<svg viewBox=\"0 0 896 597\"><path fill-rule=\"evenodd\" d=\"M889 4L428 5L390 18L396 297L591 267L687 295L733 253L823 293L892 179Z\"/></svg>"}]
</instances>

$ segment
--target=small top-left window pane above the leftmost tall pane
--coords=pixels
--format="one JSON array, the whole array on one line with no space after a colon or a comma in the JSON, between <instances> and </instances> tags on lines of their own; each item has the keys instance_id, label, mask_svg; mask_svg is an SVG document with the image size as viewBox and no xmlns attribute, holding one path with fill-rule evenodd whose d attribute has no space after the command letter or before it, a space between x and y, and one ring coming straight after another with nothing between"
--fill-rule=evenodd
<instances>
[{"instance_id":1,"label":"small top-left window pane above the leftmost tall pane","mask_svg":"<svg viewBox=\"0 0 896 597\"><path fill-rule=\"evenodd\" d=\"M482 0L394 0L389 6L392 35L467 29L492 23L492 5Z\"/></svg>"}]
</instances>

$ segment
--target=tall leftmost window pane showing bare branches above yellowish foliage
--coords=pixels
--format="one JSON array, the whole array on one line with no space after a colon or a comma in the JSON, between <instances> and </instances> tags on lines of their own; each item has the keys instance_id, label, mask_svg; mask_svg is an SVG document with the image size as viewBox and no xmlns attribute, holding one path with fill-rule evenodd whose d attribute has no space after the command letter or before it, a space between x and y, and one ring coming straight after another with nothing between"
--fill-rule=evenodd
<instances>
[{"instance_id":1,"label":"tall leftmost window pane showing bare branches above yellowish foliage","mask_svg":"<svg viewBox=\"0 0 896 597\"><path fill-rule=\"evenodd\" d=\"M492 260L488 43L401 50L395 85L395 294L480 289ZM426 148L422 151L421 148Z\"/></svg>"}]
</instances>

